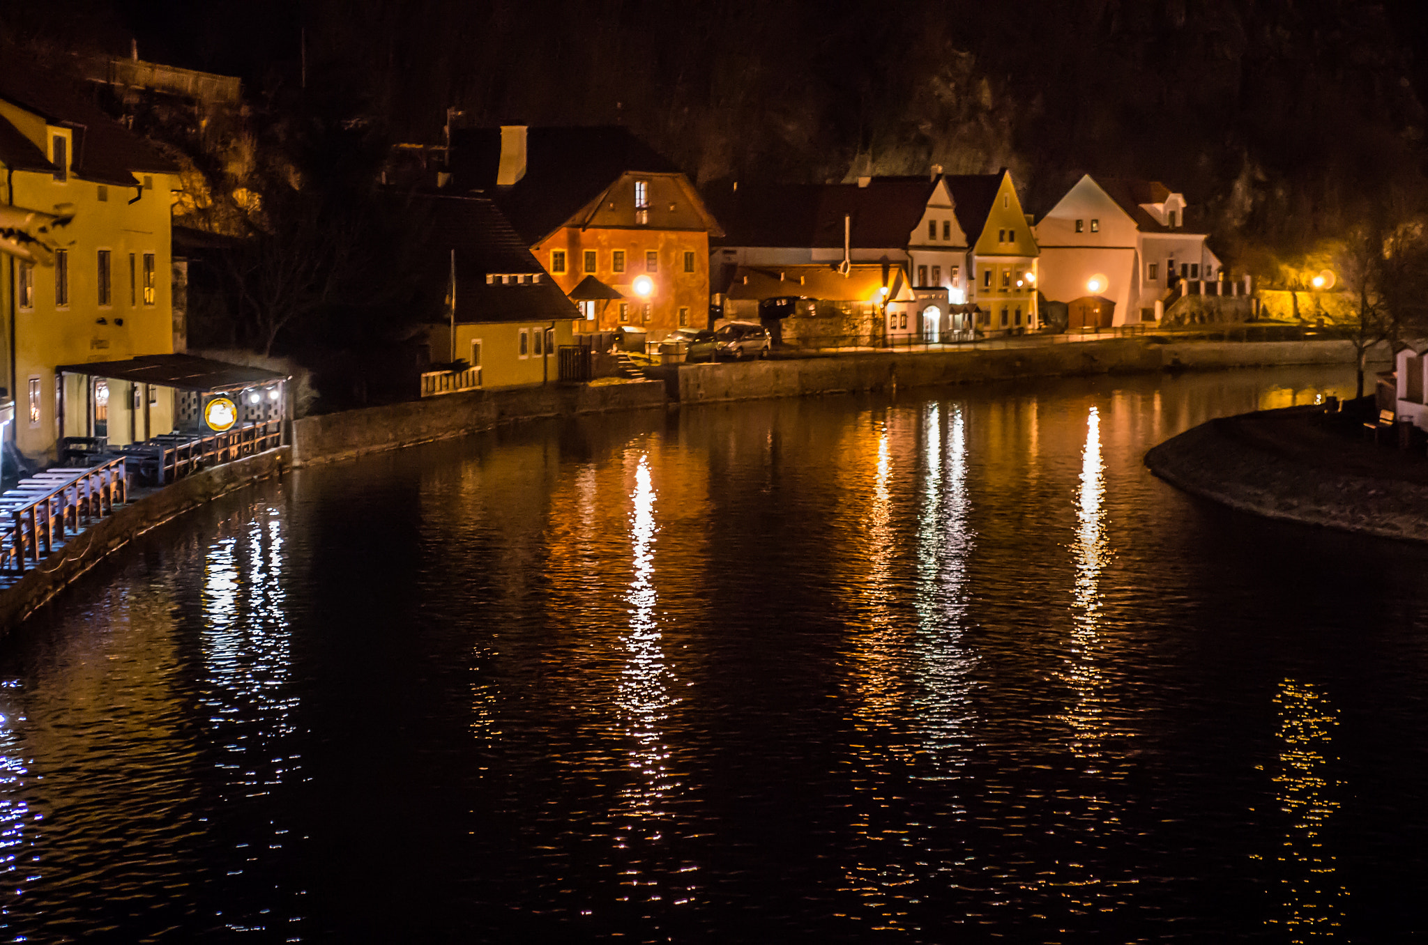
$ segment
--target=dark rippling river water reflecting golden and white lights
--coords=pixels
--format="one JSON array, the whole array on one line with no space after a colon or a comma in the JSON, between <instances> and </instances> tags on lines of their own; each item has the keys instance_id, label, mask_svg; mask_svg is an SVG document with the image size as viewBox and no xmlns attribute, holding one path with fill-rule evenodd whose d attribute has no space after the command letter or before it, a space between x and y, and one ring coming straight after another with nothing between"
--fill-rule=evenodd
<instances>
[{"instance_id":1,"label":"dark rippling river water reflecting golden and white lights","mask_svg":"<svg viewBox=\"0 0 1428 945\"><path fill-rule=\"evenodd\" d=\"M221 500L0 650L0 925L1422 941L1428 552L1141 465L1352 380L530 423Z\"/></svg>"}]
</instances>

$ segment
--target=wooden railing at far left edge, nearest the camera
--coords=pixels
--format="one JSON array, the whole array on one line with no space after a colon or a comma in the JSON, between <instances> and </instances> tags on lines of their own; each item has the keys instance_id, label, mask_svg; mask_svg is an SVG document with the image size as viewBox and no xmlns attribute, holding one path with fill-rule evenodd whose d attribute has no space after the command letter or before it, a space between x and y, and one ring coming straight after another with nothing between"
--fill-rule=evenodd
<instances>
[{"instance_id":1,"label":"wooden railing at far left edge, nearest the camera","mask_svg":"<svg viewBox=\"0 0 1428 945\"><path fill-rule=\"evenodd\" d=\"M46 470L0 495L0 568L24 574L26 561L37 565L66 534L77 535L126 502L124 465L124 457L114 457L87 468Z\"/></svg>"}]
</instances>

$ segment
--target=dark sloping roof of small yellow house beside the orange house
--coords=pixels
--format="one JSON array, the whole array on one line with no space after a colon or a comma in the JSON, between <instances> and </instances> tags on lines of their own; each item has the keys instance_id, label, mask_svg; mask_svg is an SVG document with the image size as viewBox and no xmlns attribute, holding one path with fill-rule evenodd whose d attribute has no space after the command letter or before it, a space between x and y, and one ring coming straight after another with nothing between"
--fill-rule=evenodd
<instances>
[{"instance_id":1,"label":"dark sloping roof of small yellow house beside the orange house","mask_svg":"<svg viewBox=\"0 0 1428 945\"><path fill-rule=\"evenodd\" d=\"M457 321L563 321L580 318L536 261L526 243L486 197L414 194L410 210L427 214L427 251L433 273L450 277L456 251ZM487 274L538 276L527 284L487 284Z\"/></svg>"}]
</instances>

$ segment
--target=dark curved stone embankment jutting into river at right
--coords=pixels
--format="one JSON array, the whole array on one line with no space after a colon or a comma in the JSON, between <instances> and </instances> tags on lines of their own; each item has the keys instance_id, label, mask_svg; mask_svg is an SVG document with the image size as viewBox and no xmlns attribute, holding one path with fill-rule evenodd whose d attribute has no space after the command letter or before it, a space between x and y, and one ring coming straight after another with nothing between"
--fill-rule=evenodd
<instances>
[{"instance_id":1,"label":"dark curved stone embankment jutting into river at right","mask_svg":"<svg viewBox=\"0 0 1428 945\"><path fill-rule=\"evenodd\" d=\"M1212 420L1145 454L1171 485L1244 512L1428 541L1428 458L1315 407Z\"/></svg>"}]
</instances>

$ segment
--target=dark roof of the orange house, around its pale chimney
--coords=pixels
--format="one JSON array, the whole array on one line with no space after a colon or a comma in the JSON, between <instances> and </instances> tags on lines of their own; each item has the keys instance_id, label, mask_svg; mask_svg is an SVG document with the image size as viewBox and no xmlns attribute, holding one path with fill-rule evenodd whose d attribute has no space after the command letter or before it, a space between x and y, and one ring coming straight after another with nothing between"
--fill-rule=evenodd
<instances>
[{"instance_id":1,"label":"dark roof of the orange house, around its pale chimney","mask_svg":"<svg viewBox=\"0 0 1428 945\"><path fill-rule=\"evenodd\" d=\"M625 173L680 173L628 128L614 126L527 128L526 176L500 190L496 187L500 128L453 131L451 147L456 186L487 191L526 246L560 228Z\"/></svg>"}]
</instances>

